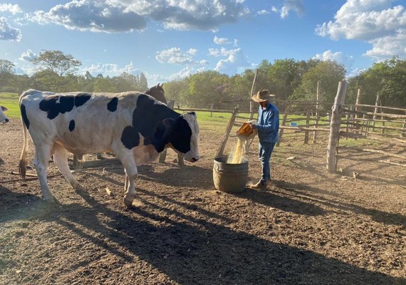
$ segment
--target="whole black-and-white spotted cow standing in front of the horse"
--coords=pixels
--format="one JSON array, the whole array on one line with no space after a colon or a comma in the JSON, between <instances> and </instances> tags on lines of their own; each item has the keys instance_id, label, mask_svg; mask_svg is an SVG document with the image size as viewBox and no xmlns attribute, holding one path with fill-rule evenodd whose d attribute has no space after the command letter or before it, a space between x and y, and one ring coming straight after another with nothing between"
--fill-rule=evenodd
<instances>
[{"instance_id":1,"label":"whole black-and-white spotted cow standing in front of the horse","mask_svg":"<svg viewBox=\"0 0 406 285\"><path fill-rule=\"evenodd\" d=\"M124 203L135 198L137 165L156 160L167 147L190 162L199 160L195 113L180 115L144 93L51 93L27 90L20 97L24 147L20 173L26 174L28 134L35 145L34 165L43 199L56 201L48 189L48 160L76 190L83 187L68 167L66 150L77 155L114 152L125 168Z\"/></svg>"}]
</instances>

